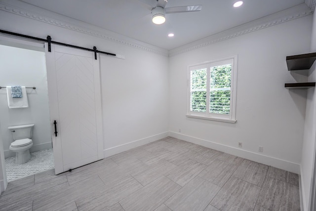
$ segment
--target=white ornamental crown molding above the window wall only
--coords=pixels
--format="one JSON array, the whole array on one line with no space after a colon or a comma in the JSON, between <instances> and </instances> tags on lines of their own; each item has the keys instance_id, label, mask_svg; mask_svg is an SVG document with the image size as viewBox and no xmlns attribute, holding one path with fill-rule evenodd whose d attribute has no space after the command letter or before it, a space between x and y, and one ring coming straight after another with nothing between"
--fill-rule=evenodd
<instances>
[{"instance_id":1,"label":"white ornamental crown molding above the window wall only","mask_svg":"<svg viewBox=\"0 0 316 211\"><path fill-rule=\"evenodd\" d=\"M175 56L178 54L182 54L182 53L186 53L188 51L196 50L198 48L205 47L205 46L217 43L217 42L226 41L226 40L229 40L231 38L235 38L235 37L238 37L240 35L248 34L248 33L255 32L255 31L258 31L261 29L265 29L265 28L268 28L270 26L274 26L274 25L277 25L280 23L284 23L284 22L291 21L291 20L294 20L297 18L305 17L307 15L313 14L314 9L315 9L315 5L316 5L316 0L313 0L311 2L311 4L312 4L312 7L310 7L309 9L307 9L305 11L301 11L301 12L294 13L291 15L286 15L286 16L283 16L281 18L277 18L277 19L274 19L274 20L271 20L271 21L268 21L268 22L265 22L262 24L258 24L256 26L238 31L238 28L240 29L242 27L242 26L239 26L239 27L235 28L236 32L234 32L234 33L230 33L230 31L232 29L226 30L224 32L219 33L219 34L222 34L222 36L220 36L219 38L214 38L216 35L212 35L212 36L206 37L204 39L201 39L199 41L185 44L185 45L180 46L178 48L169 50L169 57Z\"/></svg>"}]
</instances>

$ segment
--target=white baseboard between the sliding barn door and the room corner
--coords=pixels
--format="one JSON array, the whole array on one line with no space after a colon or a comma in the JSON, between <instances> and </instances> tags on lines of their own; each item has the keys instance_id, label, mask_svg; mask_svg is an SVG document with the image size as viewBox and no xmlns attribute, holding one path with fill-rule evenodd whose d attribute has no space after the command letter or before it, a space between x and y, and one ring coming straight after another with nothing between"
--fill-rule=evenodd
<instances>
[{"instance_id":1,"label":"white baseboard between the sliding barn door and the room corner","mask_svg":"<svg viewBox=\"0 0 316 211\"><path fill-rule=\"evenodd\" d=\"M122 144L122 145L119 145L116 147L105 149L105 150L103 150L103 154L104 154L104 157L106 158L106 157L118 154L120 152L124 152L126 150L130 150L130 149L133 149L135 147L139 147L139 146L142 146L144 144L148 144L148 143L153 142L153 141L157 141L161 138L167 137L168 135L169 135L169 132L162 132L162 133L159 133L156 135L148 136L148 137L145 137L145 138L142 138L139 140L131 141L131 142L126 143L126 144Z\"/></svg>"}]
</instances>

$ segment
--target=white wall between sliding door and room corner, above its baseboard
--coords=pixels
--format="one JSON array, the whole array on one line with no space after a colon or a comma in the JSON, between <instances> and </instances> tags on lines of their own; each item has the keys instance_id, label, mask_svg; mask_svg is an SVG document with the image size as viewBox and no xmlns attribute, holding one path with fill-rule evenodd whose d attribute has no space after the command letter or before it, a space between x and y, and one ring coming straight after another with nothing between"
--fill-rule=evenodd
<instances>
[{"instance_id":1,"label":"white wall between sliding door and room corner, above its baseboard","mask_svg":"<svg viewBox=\"0 0 316 211\"><path fill-rule=\"evenodd\" d=\"M105 149L168 131L168 58L132 48L124 55L100 59Z\"/></svg>"}]
</instances>

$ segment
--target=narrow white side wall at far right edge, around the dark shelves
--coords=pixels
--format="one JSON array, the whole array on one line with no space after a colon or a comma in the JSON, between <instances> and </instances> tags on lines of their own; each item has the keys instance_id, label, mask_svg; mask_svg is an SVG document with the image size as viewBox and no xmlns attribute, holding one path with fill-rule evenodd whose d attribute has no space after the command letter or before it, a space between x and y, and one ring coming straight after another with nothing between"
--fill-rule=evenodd
<instances>
[{"instance_id":1,"label":"narrow white side wall at far right edge, around the dark shelves","mask_svg":"<svg viewBox=\"0 0 316 211\"><path fill-rule=\"evenodd\" d=\"M316 52L316 13L313 15L311 49ZM311 67L309 82L316 82L316 63ZM301 182L304 210L310 211L312 197L312 181L315 180L315 147L316 147L316 92L315 88L308 89L306 104L306 121L304 129L304 142L302 149Z\"/></svg>"}]
</instances>

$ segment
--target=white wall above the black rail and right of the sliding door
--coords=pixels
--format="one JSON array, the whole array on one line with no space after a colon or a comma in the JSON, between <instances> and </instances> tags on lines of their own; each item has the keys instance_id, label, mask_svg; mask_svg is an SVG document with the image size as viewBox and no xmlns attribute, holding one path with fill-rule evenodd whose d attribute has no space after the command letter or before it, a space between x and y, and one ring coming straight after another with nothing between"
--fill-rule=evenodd
<instances>
[{"instance_id":1,"label":"white wall above the black rail and right of the sliding door","mask_svg":"<svg viewBox=\"0 0 316 211\"><path fill-rule=\"evenodd\" d=\"M58 14L33 7L21 1L9 0L18 8L24 8L45 17L61 20L72 27L78 25L104 35L92 36L71 30L47 21L38 21L22 15L0 10L0 28L65 42L87 48L96 46L98 50L125 56L118 59L100 54L103 132L105 156L158 140L168 132L168 57L147 51L145 44L129 44L130 39L117 35L117 39L108 40L107 33L101 28L79 22ZM37 17L37 16L35 16ZM3 20L3 21L2 21ZM43 19L42 19L43 20ZM58 22L58 21L57 21ZM51 24L53 23L53 24ZM83 31L84 31L83 30ZM126 42L124 41L126 40ZM121 43L119 43L121 42ZM139 43L139 44L137 44ZM150 49L157 47L151 46ZM158 48L157 48L158 49ZM157 51L164 51L158 49Z\"/></svg>"}]
</instances>

